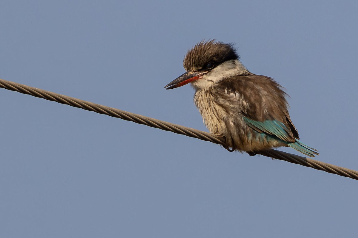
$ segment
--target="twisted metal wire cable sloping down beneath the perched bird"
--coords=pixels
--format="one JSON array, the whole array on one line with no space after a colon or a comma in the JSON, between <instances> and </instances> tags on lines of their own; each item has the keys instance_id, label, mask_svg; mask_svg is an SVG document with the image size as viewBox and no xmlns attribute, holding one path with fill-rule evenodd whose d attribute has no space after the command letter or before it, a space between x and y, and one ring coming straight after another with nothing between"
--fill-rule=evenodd
<instances>
[{"instance_id":1,"label":"twisted metal wire cable sloping down beneath the perched bird","mask_svg":"<svg viewBox=\"0 0 358 238\"><path fill-rule=\"evenodd\" d=\"M0 79L0 87L11 90L11 91L16 91L16 92L32 95L34 97L40 97L40 98L44 98L46 100L59 102L59 103L66 104L69 106L82 108L87 111L93 111L93 112L108 115L111 117L121 118L126 121L132 121L132 122L139 123L142 125L159 128L161 130L171 131L171 132L174 132L177 134L198 138L203 141L210 141L212 143L216 143L219 145L224 145L224 143L225 143L224 138L217 137L216 135L214 135L212 133L199 131L194 128L176 125L176 124L173 124L170 122L157 120L157 119L154 119L151 117L146 117L146 116L142 116L142 115L131 113L131 112L122 111L122 110L119 110L116 108L103 106L100 104L84 101L84 100L77 99L74 97L64 96L64 95L61 95L58 93L45 91L45 90L42 90L39 88L26 86L26 85L23 85L20 83L15 83L15 82ZM358 179L358 171L335 166L335 165L329 164L329 163L324 163L321 161L317 161L315 159L305 158L302 156L293 155L290 153L272 150L272 149L266 150L266 151L260 151L260 152L258 152L258 154L267 156L270 158L284 160L284 161L295 163L295 164L300 164L302 166L322 170L322 171L325 171L328 173L334 173L334 174L338 174L340 176Z\"/></svg>"}]
</instances>

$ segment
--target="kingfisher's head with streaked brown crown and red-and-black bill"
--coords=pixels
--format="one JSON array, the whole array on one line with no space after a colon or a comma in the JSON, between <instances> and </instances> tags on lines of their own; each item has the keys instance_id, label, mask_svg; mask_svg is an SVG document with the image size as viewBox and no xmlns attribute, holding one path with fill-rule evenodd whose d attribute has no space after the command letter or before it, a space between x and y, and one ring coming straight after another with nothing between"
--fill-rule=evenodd
<instances>
[{"instance_id":1,"label":"kingfisher's head with streaked brown crown and red-and-black bill","mask_svg":"<svg viewBox=\"0 0 358 238\"><path fill-rule=\"evenodd\" d=\"M233 44L215 40L201 41L184 58L183 65L187 72L164 88L172 89L190 82L195 89L205 88L228 77L248 72L238 59Z\"/></svg>"}]
</instances>

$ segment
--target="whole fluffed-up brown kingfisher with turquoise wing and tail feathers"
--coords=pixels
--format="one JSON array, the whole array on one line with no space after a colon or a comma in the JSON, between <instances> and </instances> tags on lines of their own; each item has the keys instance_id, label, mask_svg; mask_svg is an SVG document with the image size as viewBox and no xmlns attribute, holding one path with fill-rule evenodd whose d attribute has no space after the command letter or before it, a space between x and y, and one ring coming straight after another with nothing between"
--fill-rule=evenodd
<instances>
[{"instance_id":1,"label":"whole fluffed-up brown kingfisher with turquoise wing and tail feathers","mask_svg":"<svg viewBox=\"0 0 358 238\"><path fill-rule=\"evenodd\" d=\"M187 71L164 88L191 83L194 102L211 133L224 137L224 148L249 155L289 146L314 157L318 151L299 141L286 101L273 79L252 74L240 62L233 44L202 41L187 52Z\"/></svg>"}]
</instances>

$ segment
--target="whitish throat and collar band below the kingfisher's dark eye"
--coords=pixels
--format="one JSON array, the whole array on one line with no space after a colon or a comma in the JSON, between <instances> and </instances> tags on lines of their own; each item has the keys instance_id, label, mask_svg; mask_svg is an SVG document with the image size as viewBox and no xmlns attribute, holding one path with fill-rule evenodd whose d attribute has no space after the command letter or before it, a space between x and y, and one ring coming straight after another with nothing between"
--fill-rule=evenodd
<instances>
[{"instance_id":1,"label":"whitish throat and collar band below the kingfisher's dark eye","mask_svg":"<svg viewBox=\"0 0 358 238\"><path fill-rule=\"evenodd\" d=\"M195 80L190 84L195 90L205 89L232 76L247 73L248 70L240 60L228 60L216 66L212 71L204 75L203 79Z\"/></svg>"}]
</instances>

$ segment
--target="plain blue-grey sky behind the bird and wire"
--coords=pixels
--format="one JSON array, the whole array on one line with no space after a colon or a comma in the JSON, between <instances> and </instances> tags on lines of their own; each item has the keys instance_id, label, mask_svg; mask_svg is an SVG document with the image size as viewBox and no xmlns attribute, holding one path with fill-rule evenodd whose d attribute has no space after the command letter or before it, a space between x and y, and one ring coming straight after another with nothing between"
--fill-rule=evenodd
<instances>
[{"instance_id":1,"label":"plain blue-grey sky behind the bird and wire","mask_svg":"<svg viewBox=\"0 0 358 238\"><path fill-rule=\"evenodd\" d=\"M316 159L358 169L357 1L0 2L0 78L205 130L203 39L275 78ZM0 89L0 237L354 237L358 182ZM284 151L298 153L290 148Z\"/></svg>"}]
</instances>

